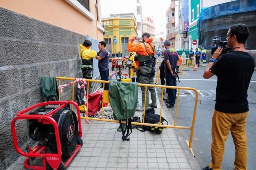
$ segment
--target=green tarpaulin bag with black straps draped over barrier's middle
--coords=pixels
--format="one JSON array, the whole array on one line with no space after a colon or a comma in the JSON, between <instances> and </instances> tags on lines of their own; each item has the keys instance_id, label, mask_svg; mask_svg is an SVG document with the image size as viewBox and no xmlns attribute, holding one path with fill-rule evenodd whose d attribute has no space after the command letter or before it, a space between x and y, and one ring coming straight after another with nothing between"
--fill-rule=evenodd
<instances>
[{"instance_id":1,"label":"green tarpaulin bag with black straps draped over barrier's middle","mask_svg":"<svg viewBox=\"0 0 256 170\"><path fill-rule=\"evenodd\" d=\"M109 101L114 112L114 119L119 120L123 132L123 141L127 139L131 128L131 118L134 116L138 101L138 83L109 81ZM121 121L126 122L125 129ZM128 122L127 122L128 120ZM127 130L127 134L125 132Z\"/></svg>"}]
</instances>

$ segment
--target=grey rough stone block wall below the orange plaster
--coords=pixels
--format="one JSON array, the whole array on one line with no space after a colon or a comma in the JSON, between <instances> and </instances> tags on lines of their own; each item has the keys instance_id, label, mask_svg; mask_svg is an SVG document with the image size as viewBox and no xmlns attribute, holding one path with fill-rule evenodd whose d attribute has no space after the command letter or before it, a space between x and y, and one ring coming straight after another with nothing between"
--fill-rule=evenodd
<instances>
[{"instance_id":1,"label":"grey rough stone block wall below the orange plaster","mask_svg":"<svg viewBox=\"0 0 256 170\"><path fill-rule=\"evenodd\" d=\"M44 101L41 76L82 77L79 43L98 40L0 8L0 170L19 156L13 147L10 123L17 112ZM94 60L95 61L95 60ZM99 75L94 62L94 76ZM68 81L63 81L66 83ZM61 99L71 99L66 87ZM18 142L31 145L26 121L16 123Z\"/></svg>"}]
</instances>

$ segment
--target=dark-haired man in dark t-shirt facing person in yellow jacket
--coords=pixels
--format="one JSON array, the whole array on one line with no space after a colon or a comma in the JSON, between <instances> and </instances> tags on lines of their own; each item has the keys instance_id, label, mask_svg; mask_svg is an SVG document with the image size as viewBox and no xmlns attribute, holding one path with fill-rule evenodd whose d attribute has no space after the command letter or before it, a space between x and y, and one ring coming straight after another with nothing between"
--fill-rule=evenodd
<instances>
[{"instance_id":1,"label":"dark-haired man in dark t-shirt facing person in yellow jacket","mask_svg":"<svg viewBox=\"0 0 256 170\"><path fill-rule=\"evenodd\" d=\"M109 52L106 50L106 43L101 41L98 45L99 52L97 53L96 59L99 60L99 74L101 80L109 80ZM103 88L103 83L101 83ZM105 83L104 90L109 90L109 83Z\"/></svg>"}]
</instances>

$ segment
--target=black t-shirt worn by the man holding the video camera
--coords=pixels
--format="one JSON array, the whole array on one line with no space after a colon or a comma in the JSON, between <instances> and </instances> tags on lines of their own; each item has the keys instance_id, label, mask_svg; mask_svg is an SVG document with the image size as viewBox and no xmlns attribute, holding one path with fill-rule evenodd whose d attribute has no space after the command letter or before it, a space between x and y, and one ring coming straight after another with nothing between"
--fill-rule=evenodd
<instances>
[{"instance_id":1,"label":"black t-shirt worn by the man holding the video camera","mask_svg":"<svg viewBox=\"0 0 256 170\"><path fill-rule=\"evenodd\" d=\"M243 51L228 52L210 71L218 78L215 110L225 113L249 111L247 90L254 72L252 56Z\"/></svg>"}]
</instances>

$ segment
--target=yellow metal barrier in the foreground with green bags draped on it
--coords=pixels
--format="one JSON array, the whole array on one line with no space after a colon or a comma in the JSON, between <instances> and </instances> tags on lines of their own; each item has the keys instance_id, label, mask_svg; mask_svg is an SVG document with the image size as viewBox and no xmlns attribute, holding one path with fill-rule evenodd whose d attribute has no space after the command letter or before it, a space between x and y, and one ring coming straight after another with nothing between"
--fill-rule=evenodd
<instances>
[{"instance_id":1,"label":"yellow metal barrier in the foreground with green bags draped on it","mask_svg":"<svg viewBox=\"0 0 256 170\"><path fill-rule=\"evenodd\" d=\"M72 101L74 101L74 79L75 78L66 78L66 77L56 77L56 79L59 80L59 85L61 85L61 80L71 80L72 83ZM103 81L103 80L90 80L90 79L84 79L87 82L97 82L97 83L103 83L103 89L105 88L105 83L109 83L109 81ZM150 85L150 84L141 84L138 83L138 86L145 87L145 96L147 95L147 88L148 87L155 87L155 88L161 88L162 89L162 95L161 95L161 107L160 107L160 119L159 119L159 124L151 124L151 123L144 123L145 120L145 103L146 103L146 98L144 98L144 111L143 111L143 121L142 123L138 122L132 122L133 125L142 125L142 126L153 126L153 127L164 127L164 128L179 128L179 129L188 129L190 130L190 139L188 143L188 147L190 148L193 156L193 150L192 150L192 139L193 139L193 131L195 127L195 116L196 116L196 111L197 111L197 102L198 102L198 92L194 88L190 87L176 87L176 86L165 86L165 85ZM178 97L177 97L177 103L176 103L176 112L175 112L175 119L174 119L174 125L161 125L161 116L162 116L162 106L163 106L163 96L164 96L164 88L166 89L177 89L178 90ZM193 109L193 118L192 118L192 125L189 127L184 127L184 126L177 126L176 125L176 120L177 120L177 115L178 115L178 106L179 106L179 96L180 96L180 90L193 90L195 92L195 103L194 103L194 109ZM89 92L89 87L87 86L87 108L88 108L88 92ZM103 102L102 102L102 112L103 112L103 103L110 103L109 101L109 91L108 90L103 90ZM60 90L59 90L59 100L61 99L60 96ZM72 107L73 109L73 107ZM112 120L112 119L103 119L103 114L101 114L101 118L90 118L88 117L88 109L86 112L86 117L81 116L81 119L87 119L87 120L98 120L98 121L106 121L106 122L114 122L114 123L119 123L118 120ZM125 121L122 121L122 123L125 123Z\"/></svg>"}]
</instances>

